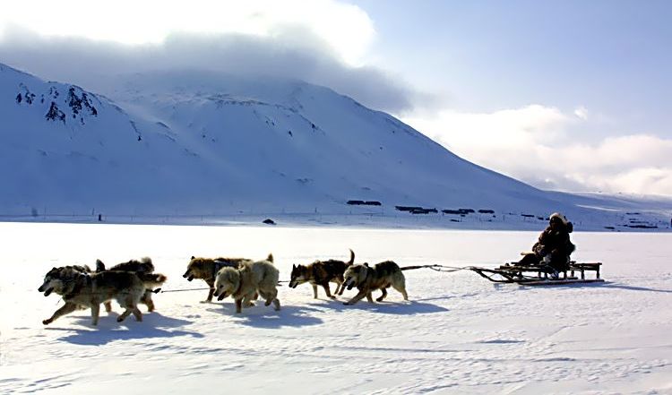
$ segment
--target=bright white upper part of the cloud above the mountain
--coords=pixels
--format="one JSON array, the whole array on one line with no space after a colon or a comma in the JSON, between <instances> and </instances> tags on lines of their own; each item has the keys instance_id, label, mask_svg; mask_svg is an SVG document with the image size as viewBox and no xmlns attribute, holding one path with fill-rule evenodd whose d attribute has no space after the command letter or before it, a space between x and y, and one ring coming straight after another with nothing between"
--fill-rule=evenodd
<instances>
[{"instance_id":1,"label":"bright white upper part of the cloud above the mountain","mask_svg":"<svg viewBox=\"0 0 672 395\"><path fill-rule=\"evenodd\" d=\"M373 21L335 0L31 0L4 2L2 31L12 27L47 37L158 44L172 33L240 33L273 38L288 26L306 30L351 65L360 65L375 39ZM295 43L296 44L296 43Z\"/></svg>"}]
</instances>

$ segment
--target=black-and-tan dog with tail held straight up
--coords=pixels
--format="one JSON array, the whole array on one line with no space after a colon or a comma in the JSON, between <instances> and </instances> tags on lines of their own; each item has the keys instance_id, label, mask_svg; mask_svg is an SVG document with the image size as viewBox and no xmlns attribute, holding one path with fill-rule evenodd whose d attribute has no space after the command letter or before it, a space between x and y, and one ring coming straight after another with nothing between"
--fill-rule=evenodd
<instances>
[{"instance_id":1,"label":"black-and-tan dog with tail held straight up","mask_svg":"<svg viewBox=\"0 0 672 395\"><path fill-rule=\"evenodd\" d=\"M335 259L329 261L315 261L306 266L292 265L291 280L289 281L289 288L297 288L299 284L309 282L313 286L313 297L317 299L317 286L322 286L327 296L335 298L336 295L343 295L343 273L345 270L355 262L355 253L350 250L350 261L343 262ZM335 295L329 290L329 283L336 283Z\"/></svg>"}]
</instances>

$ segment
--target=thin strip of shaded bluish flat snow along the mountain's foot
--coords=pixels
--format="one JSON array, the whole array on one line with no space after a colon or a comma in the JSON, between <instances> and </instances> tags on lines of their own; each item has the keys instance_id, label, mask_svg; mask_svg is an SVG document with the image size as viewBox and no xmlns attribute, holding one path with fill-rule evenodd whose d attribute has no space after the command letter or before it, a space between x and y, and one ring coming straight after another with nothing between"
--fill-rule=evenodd
<instances>
[{"instance_id":1,"label":"thin strip of shaded bluish flat snow along the mountain's foot","mask_svg":"<svg viewBox=\"0 0 672 395\"><path fill-rule=\"evenodd\" d=\"M662 218L663 210L655 212L635 211L605 214L600 210L579 217L568 217L577 231L605 232L670 232L670 222ZM250 210L237 213L206 215L120 215L100 217L89 214L48 215L0 215L4 222L56 222L81 224L135 224L135 225L190 225L190 226L259 226L271 219L282 227L337 227L337 228L405 228L405 229L455 229L455 230L537 230L548 224L545 216L530 217L530 214L506 213L493 215L470 213L467 215L428 213L410 214L398 210L353 207L349 213L323 212L315 209L308 212L263 212ZM633 214L633 215L629 215ZM646 228L632 228L646 224Z\"/></svg>"}]
</instances>

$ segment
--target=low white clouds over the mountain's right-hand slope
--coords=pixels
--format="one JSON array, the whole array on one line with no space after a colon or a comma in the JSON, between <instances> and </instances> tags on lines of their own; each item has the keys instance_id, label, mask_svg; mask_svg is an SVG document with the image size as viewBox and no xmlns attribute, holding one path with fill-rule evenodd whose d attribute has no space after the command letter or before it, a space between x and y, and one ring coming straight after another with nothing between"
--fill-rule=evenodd
<instances>
[{"instance_id":1,"label":"low white clouds over the mountain's right-hand slope","mask_svg":"<svg viewBox=\"0 0 672 395\"><path fill-rule=\"evenodd\" d=\"M572 130L588 118L573 115L531 105L404 121L462 158L540 188L672 195L672 140L634 133L582 142Z\"/></svg>"}]
</instances>

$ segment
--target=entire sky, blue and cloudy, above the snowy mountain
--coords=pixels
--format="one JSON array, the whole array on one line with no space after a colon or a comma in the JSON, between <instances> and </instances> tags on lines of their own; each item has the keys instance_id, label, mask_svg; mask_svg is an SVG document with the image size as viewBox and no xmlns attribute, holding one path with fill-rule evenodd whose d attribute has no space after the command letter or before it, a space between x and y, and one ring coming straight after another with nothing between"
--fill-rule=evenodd
<instances>
[{"instance_id":1,"label":"entire sky, blue and cloudy, above the snowy mountain","mask_svg":"<svg viewBox=\"0 0 672 395\"><path fill-rule=\"evenodd\" d=\"M665 1L35 0L4 4L0 62L90 88L276 73L541 188L672 195L671 20Z\"/></svg>"}]
</instances>

